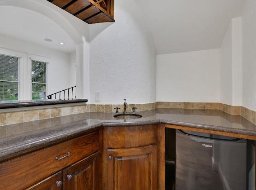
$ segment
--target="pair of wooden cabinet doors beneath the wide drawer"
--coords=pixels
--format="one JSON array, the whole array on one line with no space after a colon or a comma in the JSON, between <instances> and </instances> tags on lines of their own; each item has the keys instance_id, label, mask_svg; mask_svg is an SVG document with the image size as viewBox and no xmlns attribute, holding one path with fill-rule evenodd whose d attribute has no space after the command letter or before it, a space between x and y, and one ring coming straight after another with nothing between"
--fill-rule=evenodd
<instances>
[{"instance_id":1,"label":"pair of wooden cabinet doors beneath the wide drawer","mask_svg":"<svg viewBox=\"0 0 256 190\"><path fill-rule=\"evenodd\" d=\"M100 190L101 157L97 152L26 190Z\"/></svg>"}]
</instances>

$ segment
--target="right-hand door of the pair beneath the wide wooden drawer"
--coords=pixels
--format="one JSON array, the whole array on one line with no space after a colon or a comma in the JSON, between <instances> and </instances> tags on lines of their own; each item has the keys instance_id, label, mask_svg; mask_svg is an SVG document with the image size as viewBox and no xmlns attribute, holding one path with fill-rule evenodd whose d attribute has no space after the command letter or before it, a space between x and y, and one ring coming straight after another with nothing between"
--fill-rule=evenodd
<instances>
[{"instance_id":1,"label":"right-hand door of the pair beneath the wide wooden drawer","mask_svg":"<svg viewBox=\"0 0 256 190\"><path fill-rule=\"evenodd\" d=\"M99 190L101 160L99 152L63 170L63 190Z\"/></svg>"}]
</instances>

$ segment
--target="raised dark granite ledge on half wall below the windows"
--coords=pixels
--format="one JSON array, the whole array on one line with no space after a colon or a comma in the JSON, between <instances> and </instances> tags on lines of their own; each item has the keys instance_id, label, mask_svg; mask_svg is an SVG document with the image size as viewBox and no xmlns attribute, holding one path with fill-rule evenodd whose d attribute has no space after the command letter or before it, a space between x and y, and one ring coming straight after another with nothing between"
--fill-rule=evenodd
<instances>
[{"instance_id":1,"label":"raised dark granite ledge on half wall below the windows","mask_svg":"<svg viewBox=\"0 0 256 190\"><path fill-rule=\"evenodd\" d=\"M87 99L48 99L48 100L23 100L23 101L0 101L0 109L15 108L15 107L29 107L29 106L46 106L56 104L80 103L88 102Z\"/></svg>"}]
</instances>

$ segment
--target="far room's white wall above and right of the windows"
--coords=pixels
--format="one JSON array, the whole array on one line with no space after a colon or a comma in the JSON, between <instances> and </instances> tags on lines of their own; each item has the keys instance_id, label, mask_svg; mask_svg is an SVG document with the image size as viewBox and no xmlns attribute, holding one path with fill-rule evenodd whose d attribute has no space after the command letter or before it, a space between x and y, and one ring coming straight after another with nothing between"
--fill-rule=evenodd
<instances>
[{"instance_id":1,"label":"far room's white wall above and right of the windows","mask_svg":"<svg viewBox=\"0 0 256 190\"><path fill-rule=\"evenodd\" d=\"M0 35L0 47L51 58L47 71L47 94L70 87L70 55L26 41Z\"/></svg>"}]
</instances>

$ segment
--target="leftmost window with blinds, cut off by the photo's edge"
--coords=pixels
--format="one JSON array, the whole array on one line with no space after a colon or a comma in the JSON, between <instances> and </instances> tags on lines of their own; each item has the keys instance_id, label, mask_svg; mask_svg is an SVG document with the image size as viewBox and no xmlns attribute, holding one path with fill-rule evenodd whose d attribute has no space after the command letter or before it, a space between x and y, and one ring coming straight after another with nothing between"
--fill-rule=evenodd
<instances>
[{"instance_id":1,"label":"leftmost window with blinds, cut off by the photo's edge","mask_svg":"<svg viewBox=\"0 0 256 190\"><path fill-rule=\"evenodd\" d=\"M0 54L0 101L18 100L18 57Z\"/></svg>"}]
</instances>

